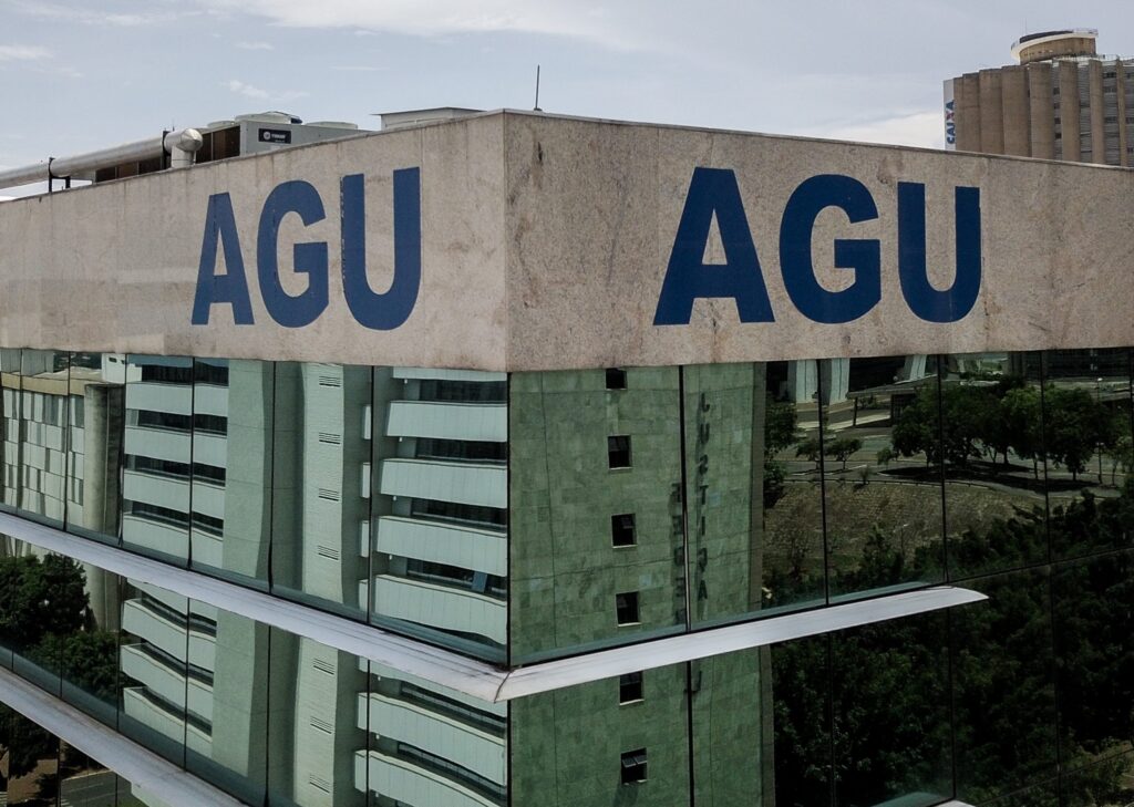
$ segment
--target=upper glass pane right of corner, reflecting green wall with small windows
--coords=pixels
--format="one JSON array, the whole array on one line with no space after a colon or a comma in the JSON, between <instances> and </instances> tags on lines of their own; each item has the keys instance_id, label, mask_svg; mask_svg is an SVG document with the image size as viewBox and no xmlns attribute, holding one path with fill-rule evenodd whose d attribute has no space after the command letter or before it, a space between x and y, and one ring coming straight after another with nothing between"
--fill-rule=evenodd
<instances>
[{"instance_id":1,"label":"upper glass pane right of corner, reflecting green wall with small windows","mask_svg":"<svg viewBox=\"0 0 1134 807\"><path fill-rule=\"evenodd\" d=\"M604 369L510 376L514 663L685 629L678 388L677 367L626 368L625 390ZM612 468L624 438L631 467ZM615 547L625 513L636 544ZM627 592L640 615L619 627Z\"/></svg>"}]
</instances>

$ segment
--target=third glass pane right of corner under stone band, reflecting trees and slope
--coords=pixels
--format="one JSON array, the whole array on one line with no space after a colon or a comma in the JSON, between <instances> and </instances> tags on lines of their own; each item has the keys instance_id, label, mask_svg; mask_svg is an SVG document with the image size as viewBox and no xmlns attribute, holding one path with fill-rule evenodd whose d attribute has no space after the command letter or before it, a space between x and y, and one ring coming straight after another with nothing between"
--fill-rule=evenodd
<instances>
[{"instance_id":1,"label":"third glass pane right of corner under stone band, reflecting trees and slope","mask_svg":"<svg viewBox=\"0 0 1134 807\"><path fill-rule=\"evenodd\" d=\"M936 356L829 359L823 468L832 597L943 579Z\"/></svg>"}]
</instances>

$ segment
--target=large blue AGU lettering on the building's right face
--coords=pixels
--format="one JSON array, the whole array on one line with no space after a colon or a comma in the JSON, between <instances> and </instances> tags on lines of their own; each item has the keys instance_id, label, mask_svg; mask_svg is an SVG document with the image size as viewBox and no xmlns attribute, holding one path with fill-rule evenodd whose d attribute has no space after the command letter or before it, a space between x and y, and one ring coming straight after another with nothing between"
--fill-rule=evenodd
<instances>
[{"instance_id":1,"label":"large blue AGU lettering on the building's right face","mask_svg":"<svg viewBox=\"0 0 1134 807\"><path fill-rule=\"evenodd\" d=\"M937 289L925 265L925 186L898 182L898 280L909 309L929 322L956 322L972 309L981 289L981 195L955 188L956 273L953 286ZM820 212L837 207L852 224L878 219L878 206L857 179L823 173L805 179L784 209L779 231L779 267L792 303L814 322L850 322L882 299L881 249L874 238L836 238L835 266L854 273L839 291L824 288L811 257L812 231ZM704 253L716 216L725 248L723 264L705 264ZM768 288L756 257L736 175L697 168L661 287L655 325L687 325L701 297L733 298L741 322L775 322Z\"/></svg>"}]
</instances>

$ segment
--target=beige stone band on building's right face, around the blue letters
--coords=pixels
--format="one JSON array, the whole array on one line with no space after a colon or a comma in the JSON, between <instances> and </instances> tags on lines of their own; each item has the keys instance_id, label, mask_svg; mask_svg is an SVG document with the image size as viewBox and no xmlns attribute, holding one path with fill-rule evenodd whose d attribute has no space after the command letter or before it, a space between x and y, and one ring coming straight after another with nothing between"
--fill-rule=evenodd
<instances>
[{"instance_id":1,"label":"beige stone band on building's right face, around the blue letters","mask_svg":"<svg viewBox=\"0 0 1134 807\"><path fill-rule=\"evenodd\" d=\"M1124 236L1134 177L1120 169L528 114L511 116L506 137L509 367L1134 343L1129 317L1105 303L1134 294ZM652 324L697 165L736 172L776 322L743 324L731 299L705 299L687 326ZM858 179L879 212L849 224L829 210L816 222L814 265L829 289L850 280L833 267L833 239L881 240L881 303L840 325L798 313L779 266L785 204L820 173ZM983 286L960 322L920 320L903 298L900 181L926 186L928 266L938 288L953 282L955 188L981 188Z\"/></svg>"}]
</instances>

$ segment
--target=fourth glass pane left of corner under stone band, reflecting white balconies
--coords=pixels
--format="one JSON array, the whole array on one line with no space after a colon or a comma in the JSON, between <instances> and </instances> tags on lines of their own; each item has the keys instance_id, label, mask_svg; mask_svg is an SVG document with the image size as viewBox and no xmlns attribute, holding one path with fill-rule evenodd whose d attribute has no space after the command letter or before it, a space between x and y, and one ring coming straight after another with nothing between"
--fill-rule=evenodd
<instances>
[{"instance_id":1,"label":"fourth glass pane left of corner under stone band, reflecting white balconies","mask_svg":"<svg viewBox=\"0 0 1134 807\"><path fill-rule=\"evenodd\" d=\"M188 563L193 359L127 358L125 462L124 545Z\"/></svg>"}]
</instances>

